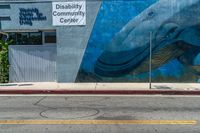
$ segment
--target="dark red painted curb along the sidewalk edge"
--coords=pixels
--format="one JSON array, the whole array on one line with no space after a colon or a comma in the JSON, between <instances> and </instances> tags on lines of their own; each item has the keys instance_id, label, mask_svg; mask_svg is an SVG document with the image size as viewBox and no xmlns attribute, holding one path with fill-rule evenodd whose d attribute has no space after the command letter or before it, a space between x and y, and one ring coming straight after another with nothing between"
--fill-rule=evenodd
<instances>
[{"instance_id":1,"label":"dark red painted curb along the sidewalk edge","mask_svg":"<svg viewBox=\"0 0 200 133\"><path fill-rule=\"evenodd\" d=\"M181 90L0 90L0 94L73 94L73 95L200 95L200 91Z\"/></svg>"}]
</instances>

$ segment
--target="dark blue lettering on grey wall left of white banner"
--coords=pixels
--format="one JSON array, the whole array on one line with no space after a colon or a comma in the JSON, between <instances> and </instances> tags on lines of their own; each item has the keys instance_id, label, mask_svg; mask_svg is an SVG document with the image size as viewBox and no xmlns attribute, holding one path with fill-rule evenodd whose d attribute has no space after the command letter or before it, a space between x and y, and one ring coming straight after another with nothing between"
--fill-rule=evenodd
<instances>
[{"instance_id":1,"label":"dark blue lettering on grey wall left of white banner","mask_svg":"<svg viewBox=\"0 0 200 133\"><path fill-rule=\"evenodd\" d=\"M20 25L33 25L33 21L45 21L47 17L40 13L37 8L20 8L19 9L19 23Z\"/></svg>"}]
</instances>

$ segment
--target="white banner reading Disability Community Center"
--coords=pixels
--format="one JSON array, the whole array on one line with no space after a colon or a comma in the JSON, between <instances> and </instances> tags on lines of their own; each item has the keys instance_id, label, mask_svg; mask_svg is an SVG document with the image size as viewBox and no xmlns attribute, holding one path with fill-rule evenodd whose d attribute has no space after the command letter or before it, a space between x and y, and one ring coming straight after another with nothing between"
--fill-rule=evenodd
<instances>
[{"instance_id":1,"label":"white banner reading Disability Community Center","mask_svg":"<svg viewBox=\"0 0 200 133\"><path fill-rule=\"evenodd\" d=\"M86 2L53 2L52 18L54 26L86 25Z\"/></svg>"}]
</instances>

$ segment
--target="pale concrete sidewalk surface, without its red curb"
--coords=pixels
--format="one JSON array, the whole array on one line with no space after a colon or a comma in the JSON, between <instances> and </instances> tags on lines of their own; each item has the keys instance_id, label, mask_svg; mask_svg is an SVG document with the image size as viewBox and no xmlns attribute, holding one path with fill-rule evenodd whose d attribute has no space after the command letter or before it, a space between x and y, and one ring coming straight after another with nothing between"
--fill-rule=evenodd
<instances>
[{"instance_id":1,"label":"pale concrete sidewalk surface, without its red curb","mask_svg":"<svg viewBox=\"0 0 200 133\"><path fill-rule=\"evenodd\" d=\"M149 90L149 83L56 83L26 82L0 84L8 90ZM200 90L200 83L152 83L153 90Z\"/></svg>"}]
</instances>

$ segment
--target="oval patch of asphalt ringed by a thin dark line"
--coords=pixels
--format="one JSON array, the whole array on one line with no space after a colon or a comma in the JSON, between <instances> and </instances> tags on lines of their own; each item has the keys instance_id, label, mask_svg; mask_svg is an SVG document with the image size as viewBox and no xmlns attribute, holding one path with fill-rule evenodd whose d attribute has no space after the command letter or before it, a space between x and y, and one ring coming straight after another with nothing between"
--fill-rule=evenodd
<instances>
[{"instance_id":1,"label":"oval patch of asphalt ringed by a thin dark line","mask_svg":"<svg viewBox=\"0 0 200 133\"><path fill-rule=\"evenodd\" d=\"M53 119L78 119L92 117L98 113L98 110L92 108L57 108L44 111L41 115Z\"/></svg>"}]
</instances>

